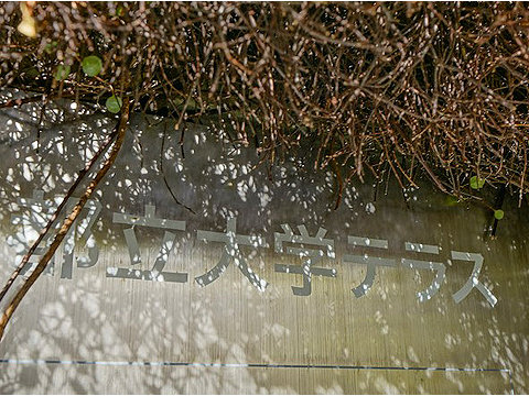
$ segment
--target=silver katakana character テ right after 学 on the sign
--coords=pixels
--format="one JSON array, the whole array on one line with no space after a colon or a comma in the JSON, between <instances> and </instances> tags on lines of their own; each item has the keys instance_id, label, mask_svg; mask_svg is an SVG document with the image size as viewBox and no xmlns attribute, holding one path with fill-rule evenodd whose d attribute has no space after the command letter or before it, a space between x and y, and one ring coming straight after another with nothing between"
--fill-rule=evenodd
<instances>
[{"instance_id":1,"label":"silver katakana character \u30c6 right after \u5b66 on the sign","mask_svg":"<svg viewBox=\"0 0 529 396\"><path fill-rule=\"evenodd\" d=\"M387 240L379 240L374 238L366 238L366 237L348 237L347 238L348 244L354 246L364 246L364 248L375 248L375 249L388 249L388 241ZM349 262L354 264L366 264L367 271L366 276L361 283L353 289L356 298L360 298L364 296L367 290L369 290L375 282L375 276L377 274L377 266L387 266L387 267L396 267L397 263L392 258L384 258L384 257L373 257L368 254L364 255L356 255L356 254L345 254L344 262Z\"/></svg>"}]
</instances>

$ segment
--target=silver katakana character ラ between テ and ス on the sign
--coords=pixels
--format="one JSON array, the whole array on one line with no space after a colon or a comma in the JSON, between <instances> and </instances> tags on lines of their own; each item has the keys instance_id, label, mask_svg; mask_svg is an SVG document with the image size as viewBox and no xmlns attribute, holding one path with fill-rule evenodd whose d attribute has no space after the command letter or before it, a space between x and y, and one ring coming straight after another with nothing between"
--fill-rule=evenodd
<instances>
[{"instance_id":1,"label":"silver katakana character \u30e9 between \u30c6 and \u30b9 on the sign","mask_svg":"<svg viewBox=\"0 0 529 396\"><path fill-rule=\"evenodd\" d=\"M439 254L439 246L428 245L422 243L411 243L406 242L406 250L408 252L418 252L427 254ZM441 285L445 278L446 266L440 262L433 261L423 261L423 260L412 260L412 258L401 258L402 265L408 268L420 268L420 270L431 270L435 271L435 277L433 278L432 284L423 292L417 294L419 301L425 301L432 298L441 288Z\"/></svg>"}]
</instances>

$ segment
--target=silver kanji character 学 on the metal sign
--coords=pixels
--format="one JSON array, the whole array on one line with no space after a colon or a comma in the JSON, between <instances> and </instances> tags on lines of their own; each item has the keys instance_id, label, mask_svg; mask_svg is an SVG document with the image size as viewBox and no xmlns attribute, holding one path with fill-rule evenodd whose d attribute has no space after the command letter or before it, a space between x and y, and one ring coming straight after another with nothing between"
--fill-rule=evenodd
<instances>
[{"instance_id":1,"label":"silver kanji character \u5b66 on the metal sign","mask_svg":"<svg viewBox=\"0 0 529 396\"><path fill-rule=\"evenodd\" d=\"M303 275L303 287L291 286L292 292L296 296L310 296L312 293L311 282L312 275L316 276L327 276L336 277L336 270L322 268L313 266L315 263L321 261L324 255L327 257L334 258L334 241L330 239L324 239L327 230L320 228L315 237L310 237L309 231L305 226L298 226L300 231L299 235L295 235L292 232L292 229L288 224L281 224L284 233L274 232L274 248L277 253L283 253L283 243L300 243L301 248L285 248L285 253L295 254L301 258L304 258L303 265L284 265L276 264L276 272L287 273L287 274L302 274ZM307 249L305 244L323 246L325 252L322 249Z\"/></svg>"}]
</instances>

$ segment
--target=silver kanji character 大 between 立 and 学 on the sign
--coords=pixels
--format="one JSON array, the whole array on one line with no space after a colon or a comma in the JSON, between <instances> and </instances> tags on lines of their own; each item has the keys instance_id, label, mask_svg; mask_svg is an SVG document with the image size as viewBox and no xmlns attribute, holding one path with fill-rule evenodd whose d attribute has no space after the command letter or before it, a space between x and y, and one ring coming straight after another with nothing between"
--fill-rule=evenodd
<instances>
[{"instance_id":1,"label":"silver kanji character \u5927 between \u7acb and \u5b66 on the sign","mask_svg":"<svg viewBox=\"0 0 529 396\"><path fill-rule=\"evenodd\" d=\"M237 235L237 218L228 219L225 233L198 230L197 239L205 242L212 241L225 244L223 255L217 265L204 275L195 277L198 285L204 287L216 280L226 271L233 260L242 275L245 275L259 292L264 292L268 283L248 267L239 250L239 245L268 248L264 239L261 237Z\"/></svg>"}]
</instances>

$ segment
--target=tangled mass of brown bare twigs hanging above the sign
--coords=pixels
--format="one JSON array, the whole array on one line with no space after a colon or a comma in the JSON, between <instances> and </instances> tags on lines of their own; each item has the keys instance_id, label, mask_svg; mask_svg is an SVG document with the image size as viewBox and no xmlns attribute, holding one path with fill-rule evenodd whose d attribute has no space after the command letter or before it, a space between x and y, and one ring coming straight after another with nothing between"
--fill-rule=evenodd
<instances>
[{"instance_id":1,"label":"tangled mass of brown bare twigs hanging above the sign","mask_svg":"<svg viewBox=\"0 0 529 396\"><path fill-rule=\"evenodd\" d=\"M477 177L521 204L528 16L511 2L6 2L0 86L101 109L128 96L268 165L314 151L305 165L333 169L337 202L368 173L403 189L424 175L458 199L479 199ZM24 21L35 34L18 30ZM83 73L90 55L96 77Z\"/></svg>"}]
</instances>

